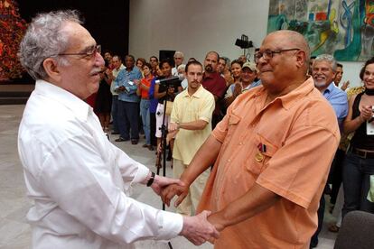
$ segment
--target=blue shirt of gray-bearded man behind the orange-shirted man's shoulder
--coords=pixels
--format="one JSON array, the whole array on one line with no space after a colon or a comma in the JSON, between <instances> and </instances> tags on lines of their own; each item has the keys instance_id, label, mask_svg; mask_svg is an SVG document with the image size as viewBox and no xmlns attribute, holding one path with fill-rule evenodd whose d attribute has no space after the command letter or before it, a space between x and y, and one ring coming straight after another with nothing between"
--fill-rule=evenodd
<instances>
[{"instance_id":1,"label":"blue shirt of gray-bearded man behind the orange-shirted man's shoulder","mask_svg":"<svg viewBox=\"0 0 374 249\"><path fill-rule=\"evenodd\" d=\"M329 101L332 105L333 110L338 118L338 123L340 129L342 128L342 122L344 118L348 115L348 97L347 94L340 88L336 88L333 82L324 89L323 97ZM323 111L323 110L321 110ZM341 129L342 131L342 129Z\"/></svg>"}]
</instances>

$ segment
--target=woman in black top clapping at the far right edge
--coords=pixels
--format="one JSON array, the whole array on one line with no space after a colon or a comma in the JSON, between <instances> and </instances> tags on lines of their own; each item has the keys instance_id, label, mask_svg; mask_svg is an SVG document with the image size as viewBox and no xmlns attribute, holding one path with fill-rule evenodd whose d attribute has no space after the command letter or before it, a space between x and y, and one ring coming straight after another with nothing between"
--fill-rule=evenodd
<instances>
[{"instance_id":1,"label":"woman in black top clapping at the far right edge","mask_svg":"<svg viewBox=\"0 0 374 249\"><path fill-rule=\"evenodd\" d=\"M365 91L351 97L343 124L344 133L354 132L343 164L343 218L353 210L374 213L374 203L367 199L369 178L374 175L374 134L370 134L374 130L374 57L360 70L360 78Z\"/></svg>"}]
</instances>

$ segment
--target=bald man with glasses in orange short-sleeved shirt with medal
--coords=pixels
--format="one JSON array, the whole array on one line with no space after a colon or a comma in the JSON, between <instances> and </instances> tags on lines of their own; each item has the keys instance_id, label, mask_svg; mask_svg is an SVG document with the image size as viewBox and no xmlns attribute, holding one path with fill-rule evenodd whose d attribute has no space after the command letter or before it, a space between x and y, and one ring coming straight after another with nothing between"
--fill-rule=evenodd
<instances>
[{"instance_id":1,"label":"bald man with glasses in orange short-sleeved shirt with medal","mask_svg":"<svg viewBox=\"0 0 374 249\"><path fill-rule=\"evenodd\" d=\"M198 208L213 212L215 248L309 247L340 140L332 106L307 76L309 58L298 32L268 34L257 53L262 86L229 106L183 172L185 186L163 193L168 205L179 195L178 205L215 161Z\"/></svg>"}]
</instances>

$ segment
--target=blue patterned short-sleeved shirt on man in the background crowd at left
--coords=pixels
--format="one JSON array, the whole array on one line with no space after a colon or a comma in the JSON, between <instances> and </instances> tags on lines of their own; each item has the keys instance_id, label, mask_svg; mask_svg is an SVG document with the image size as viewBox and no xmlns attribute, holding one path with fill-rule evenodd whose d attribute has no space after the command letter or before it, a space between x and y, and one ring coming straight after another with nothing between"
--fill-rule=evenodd
<instances>
[{"instance_id":1,"label":"blue patterned short-sleeved shirt on man in the background crowd at left","mask_svg":"<svg viewBox=\"0 0 374 249\"><path fill-rule=\"evenodd\" d=\"M134 83L134 79L140 78L142 78L142 73L136 67L134 67L131 71L127 71L126 69L121 70L115 79L115 88L117 89L123 86L126 88L126 91L118 93L118 100L126 102L139 102L140 98L136 95L137 87Z\"/></svg>"}]
</instances>

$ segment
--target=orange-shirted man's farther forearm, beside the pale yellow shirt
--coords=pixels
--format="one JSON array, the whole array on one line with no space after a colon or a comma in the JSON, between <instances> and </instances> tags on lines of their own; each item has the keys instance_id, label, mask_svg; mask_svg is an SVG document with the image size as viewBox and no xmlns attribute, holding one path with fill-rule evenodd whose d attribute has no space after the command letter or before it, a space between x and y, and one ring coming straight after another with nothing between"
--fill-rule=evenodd
<instances>
[{"instance_id":1,"label":"orange-shirted man's farther forearm, beside the pale yellow shirt","mask_svg":"<svg viewBox=\"0 0 374 249\"><path fill-rule=\"evenodd\" d=\"M190 165L183 171L181 180L187 186L190 186L203 171L206 171L216 161L220 152L222 143L214 136L210 135L203 143L198 152L196 152Z\"/></svg>"}]
</instances>

